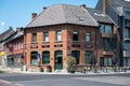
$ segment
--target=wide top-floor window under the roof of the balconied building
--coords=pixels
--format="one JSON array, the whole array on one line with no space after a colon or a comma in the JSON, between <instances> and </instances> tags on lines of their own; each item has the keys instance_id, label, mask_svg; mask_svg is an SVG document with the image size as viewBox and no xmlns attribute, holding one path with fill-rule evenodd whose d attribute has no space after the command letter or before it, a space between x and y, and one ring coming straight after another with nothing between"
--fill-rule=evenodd
<instances>
[{"instance_id":1,"label":"wide top-floor window under the roof of the balconied building","mask_svg":"<svg viewBox=\"0 0 130 86\"><path fill-rule=\"evenodd\" d=\"M110 25L101 25L100 32L101 33L113 33L113 28Z\"/></svg>"}]
</instances>

